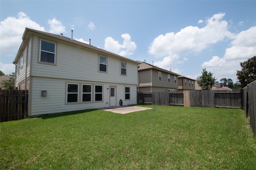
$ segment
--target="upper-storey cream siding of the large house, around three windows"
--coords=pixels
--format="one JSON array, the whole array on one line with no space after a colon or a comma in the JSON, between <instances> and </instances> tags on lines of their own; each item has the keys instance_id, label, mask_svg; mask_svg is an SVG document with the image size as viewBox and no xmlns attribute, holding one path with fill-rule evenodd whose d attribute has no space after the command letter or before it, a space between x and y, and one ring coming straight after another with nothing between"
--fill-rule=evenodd
<instances>
[{"instance_id":1,"label":"upper-storey cream siding of the large house, around three windows","mask_svg":"<svg viewBox=\"0 0 256 170\"><path fill-rule=\"evenodd\" d=\"M40 38L56 43L56 66L38 63ZM75 41L75 40L74 40ZM39 43L39 44L38 44ZM107 57L107 73L98 72L98 55ZM122 61L125 61L122 59ZM137 84L137 64L127 62L127 76L120 76L120 59L63 41L34 36L32 76Z\"/></svg>"}]
</instances>

